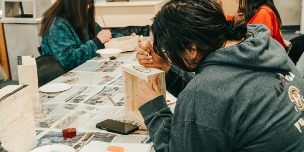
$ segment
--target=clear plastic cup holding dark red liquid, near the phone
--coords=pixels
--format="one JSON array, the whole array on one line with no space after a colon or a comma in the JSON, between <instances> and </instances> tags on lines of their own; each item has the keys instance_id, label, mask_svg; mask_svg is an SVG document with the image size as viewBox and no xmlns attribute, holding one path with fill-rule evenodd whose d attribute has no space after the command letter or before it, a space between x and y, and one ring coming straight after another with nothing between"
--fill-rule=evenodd
<instances>
[{"instance_id":1,"label":"clear plastic cup holding dark red liquid, near the phone","mask_svg":"<svg viewBox=\"0 0 304 152\"><path fill-rule=\"evenodd\" d=\"M75 109L58 109L57 115L64 138L73 138L76 136L77 114L78 111Z\"/></svg>"}]
</instances>

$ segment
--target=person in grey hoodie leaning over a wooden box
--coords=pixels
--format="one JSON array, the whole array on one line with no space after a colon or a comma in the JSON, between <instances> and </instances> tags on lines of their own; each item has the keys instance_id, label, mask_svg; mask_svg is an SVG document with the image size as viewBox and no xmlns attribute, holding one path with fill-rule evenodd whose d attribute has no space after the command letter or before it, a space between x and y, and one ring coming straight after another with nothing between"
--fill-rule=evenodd
<instances>
[{"instance_id":1,"label":"person in grey hoodie leaning over a wooden box","mask_svg":"<svg viewBox=\"0 0 304 152\"><path fill-rule=\"evenodd\" d=\"M164 70L177 97L172 114L157 77L140 82L156 151L304 150L304 79L266 26L237 19L215 0L171 0L154 17L154 42L136 57Z\"/></svg>"}]
</instances>

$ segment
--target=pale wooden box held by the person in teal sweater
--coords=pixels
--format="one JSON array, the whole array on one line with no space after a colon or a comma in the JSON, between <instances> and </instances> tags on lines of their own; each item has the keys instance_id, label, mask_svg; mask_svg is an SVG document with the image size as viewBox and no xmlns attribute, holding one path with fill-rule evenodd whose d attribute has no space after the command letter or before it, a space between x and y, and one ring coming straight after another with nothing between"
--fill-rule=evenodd
<instances>
[{"instance_id":1,"label":"pale wooden box held by the person in teal sweater","mask_svg":"<svg viewBox=\"0 0 304 152\"><path fill-rule=\"evenodd\" d=\"M123 52L134 51L134 48L138 46L138 35L136 36L124 36L111 39L105 43L105 48L122 49Z\"/></svg>"}]
</instances>

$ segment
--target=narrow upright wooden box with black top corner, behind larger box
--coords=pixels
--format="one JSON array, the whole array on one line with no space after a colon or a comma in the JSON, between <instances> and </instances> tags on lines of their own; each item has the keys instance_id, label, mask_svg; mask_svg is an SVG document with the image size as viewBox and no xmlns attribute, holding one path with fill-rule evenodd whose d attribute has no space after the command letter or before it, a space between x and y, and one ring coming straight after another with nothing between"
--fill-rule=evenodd
<instances>
[{"instance_id":1,"label":"narrow upright wooden box with black top corner, behind larger box","mask_svg":"<svg viewBox=\"0 0 304 152\"><path fill-rule=\"evenodd\" d=\"M19 56L18 57L18 78L19 85L29 85L31 95L39 93L38 90L38 75L37 65L34 56ZM38 102L38 99L33 99L33 102Z\"/></svg>"}]
</instances>

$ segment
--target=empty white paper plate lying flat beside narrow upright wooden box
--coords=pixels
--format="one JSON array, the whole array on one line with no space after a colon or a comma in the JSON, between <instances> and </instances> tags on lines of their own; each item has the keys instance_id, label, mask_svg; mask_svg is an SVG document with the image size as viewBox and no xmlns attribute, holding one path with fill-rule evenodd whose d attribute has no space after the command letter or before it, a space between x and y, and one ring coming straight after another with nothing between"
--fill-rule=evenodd
<instances>
[{"instance_id":1,"label":"empty white paper plate lying flat beside narrow upright wooden box","mask_svg":"<svg viewBox=\"0 0 304 152\"><path fill-rule=\"evenodd\" d=\"M62 92L72 88L70 84L67 83L53 83L48 85L43 85L39 88L40 92L53 93L53 92Z\"/></svg>"}]
</instances>

